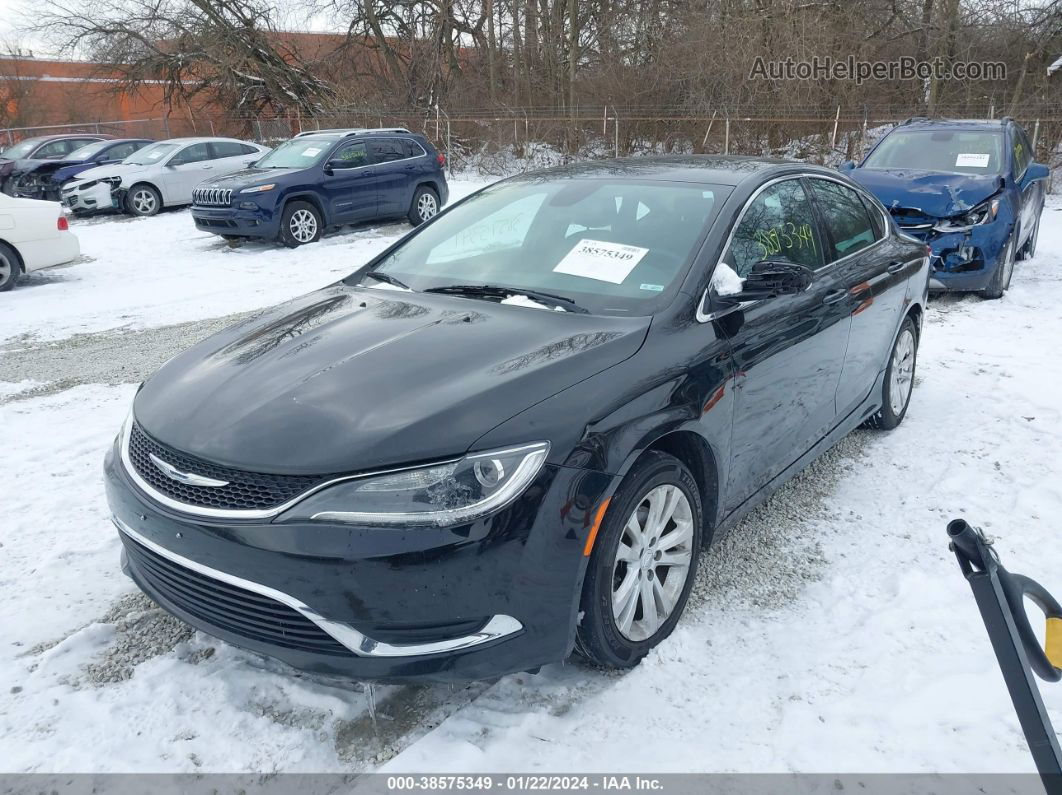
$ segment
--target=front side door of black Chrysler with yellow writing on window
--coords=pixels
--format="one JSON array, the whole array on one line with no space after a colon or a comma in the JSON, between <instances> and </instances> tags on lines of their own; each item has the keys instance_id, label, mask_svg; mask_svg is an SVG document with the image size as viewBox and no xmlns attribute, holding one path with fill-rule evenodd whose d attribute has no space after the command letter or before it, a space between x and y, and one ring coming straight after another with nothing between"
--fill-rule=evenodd
<instances>
[{"instance_id":1,"label":"front side door of black Chrysler with yellow writing on window","mask_svg":"<svg viewBox=\"0 0 1062 795\"><path fill-rule=\"evenodd\" d=\"M785 257L815 271L798 295L746 305L724 327L736 376L726 508L733 511L809 450L835 425L835 396L851 313L826 264L813 205L799 176L768 183L749 202L722 262L746 276Z\"/></svg>"}]
</instances>

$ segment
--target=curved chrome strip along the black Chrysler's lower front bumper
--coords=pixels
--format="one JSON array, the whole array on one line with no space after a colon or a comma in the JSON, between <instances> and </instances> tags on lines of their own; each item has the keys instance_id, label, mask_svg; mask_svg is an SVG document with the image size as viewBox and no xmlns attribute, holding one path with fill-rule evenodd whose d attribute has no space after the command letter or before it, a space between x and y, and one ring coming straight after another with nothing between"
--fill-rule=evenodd
<instances>
[{"instance_id":1,"label":"curved chrome strip along the black Chrysler's lower front bumper","mask_svg":"<svg viewBox=\"0 0 1062 795\"><path fill-rule=\"evenodd\" d=\"M237 588L242 588L243 590L261 594L279 602L280 604L287 605L296 612L301 613L304 618L316 624L322 632L335 638L339 643L343 644L346 649L349 649L359 657L416 657L419 655L445 654L448 652L457 652L463 649L477 646L492 640L498 640L499 638L514 635L524 628L524 625L512 616L498 615L491 617L491 620L486 622L482 629L477 633L473 633L472 635L463 635L459 638L436 640L429 643L383 643L382 641L373 640L367 635L358 632L349 624L326 619L312 607L304 604L301 600L289 593L278 591L275 588L270 588L268 585L262 585L261 583L255 583L250 580L244 580L243 577L238 577L235 574L212 569L209 566L204 566L203 564L196 563L195 560L187 558L184 555L178 555L176 552L168 550L166 547L155 543L151 539L142 536L140 533L137 533L117 516L113 516L112 521L114 521L115 526L118 528L120 533L124 533L134 542L145 547L168 560L172 560L178 566L183 566L186 569L190 569L204 576L218 580L222 583L227 583L228 585L234 585Z\"/></svg>"}]
</instances>

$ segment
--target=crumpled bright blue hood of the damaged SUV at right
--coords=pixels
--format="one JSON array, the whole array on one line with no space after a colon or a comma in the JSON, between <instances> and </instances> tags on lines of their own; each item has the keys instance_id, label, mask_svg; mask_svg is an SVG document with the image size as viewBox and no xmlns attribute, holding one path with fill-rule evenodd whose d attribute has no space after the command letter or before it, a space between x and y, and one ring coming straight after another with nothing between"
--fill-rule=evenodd
<instances>
[{"instance_id":1,"label":"crumpled bright blue hood of the damaged SUV at right","mask_svg":"<svg viewBox=\"0 0 1062 795\"><path fill-rule=\"evenodd\" d=\"M854 169L849 176L866 186L887 208L917 208L926 215L952 218L973 209L999 190L996 174L947 174L914 169Z\"/></svg>"}]
</instances>

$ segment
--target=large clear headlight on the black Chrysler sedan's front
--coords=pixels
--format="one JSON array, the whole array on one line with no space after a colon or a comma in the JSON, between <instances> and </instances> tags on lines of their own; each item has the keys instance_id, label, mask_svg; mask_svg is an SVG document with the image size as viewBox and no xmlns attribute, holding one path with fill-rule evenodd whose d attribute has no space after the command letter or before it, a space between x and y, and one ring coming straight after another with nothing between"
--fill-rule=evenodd
<instances>
[{"instance_id":1,"label":"large clear headlight on the black Chrysler sedan's front","mask_svg":"<svg viewBox=\"0 0 1062 795\"><path fill-rule=\"evenodd\" d=\"M286 514L348 524L448 526L510 505L542 469L548 442L357 478L306 498Z\"/></svg>"}]
</instances>

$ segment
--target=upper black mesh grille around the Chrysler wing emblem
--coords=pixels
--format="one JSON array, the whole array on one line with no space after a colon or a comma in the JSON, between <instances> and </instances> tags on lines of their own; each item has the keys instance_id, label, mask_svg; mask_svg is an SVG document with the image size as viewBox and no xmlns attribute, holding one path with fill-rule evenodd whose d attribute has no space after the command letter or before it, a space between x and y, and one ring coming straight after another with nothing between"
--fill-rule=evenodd
<instances>
[{"instance_id":1,"label":"upper black mesh grille around the Chrysler wing emblem","mask_svg":"<svg viewBox=\"0 0 1062 795\"><path fill-rule=\"evenodd\" d=\"M154 453L170 466L213 480L226 481L218 487L192 486L165 474L149 457ZM130 464L152 488L171 500L199 507L223 511L264 511L330 480L333 476L267 474L217 466L167 447L144 433L136 422L130 429Z\"/></svg>"}]
</instances>

